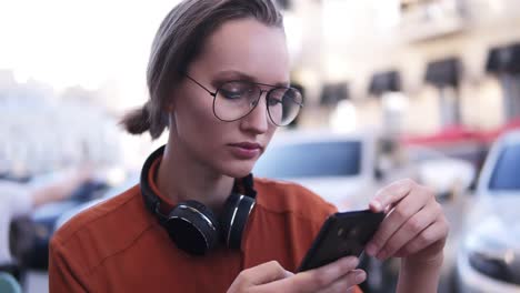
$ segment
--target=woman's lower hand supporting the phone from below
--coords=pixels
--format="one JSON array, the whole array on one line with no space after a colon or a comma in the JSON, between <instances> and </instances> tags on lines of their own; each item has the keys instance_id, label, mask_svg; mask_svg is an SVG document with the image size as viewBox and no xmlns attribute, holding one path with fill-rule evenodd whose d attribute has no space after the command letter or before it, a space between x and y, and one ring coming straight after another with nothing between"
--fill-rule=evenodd
<instances>
[{"instance_id":1,"label":"woman's lower hand supporting the phone from below","mask_svg":"<svg viewBox=\"0 0 520 293\"><path fill-rule=\"evenodd\" d=\"M242 271L228 290L228 293L248 292L353 292L367 274L357 270L359 261L349 256L319 269L293 274L278 262L271 261Z\"/></svg>"}]
</instances>

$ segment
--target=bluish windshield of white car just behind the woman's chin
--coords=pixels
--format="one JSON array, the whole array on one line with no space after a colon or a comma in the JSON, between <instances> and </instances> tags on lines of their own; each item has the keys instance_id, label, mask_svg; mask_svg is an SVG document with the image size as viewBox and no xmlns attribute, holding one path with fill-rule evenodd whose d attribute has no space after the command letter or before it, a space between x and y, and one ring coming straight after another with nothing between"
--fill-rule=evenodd
<instances>
[{"instance_id":1,"label":"bluish windshield of white car just behind the woman's chin","mask_svg":"<svg viewBox=\"0 0 520 293\"><path fill-rule=\"evenodd\" d=\"M321 141L273 145L257 162L253 173L273 179L352 176L360 169L360 141Z\"/></svg>"}]
</instances>

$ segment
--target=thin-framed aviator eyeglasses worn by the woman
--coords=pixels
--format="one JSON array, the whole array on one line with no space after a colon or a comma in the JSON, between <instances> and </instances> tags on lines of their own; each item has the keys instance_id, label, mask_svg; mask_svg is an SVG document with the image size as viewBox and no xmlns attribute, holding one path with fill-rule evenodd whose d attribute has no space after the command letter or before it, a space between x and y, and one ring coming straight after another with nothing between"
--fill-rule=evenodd
<instances>
[{"instance_id":1,"label":"thin-framed aviator eyeglasses worn by the woman","mask_svg":"<svg viewBox=\"0 0 520 293\"><path fill-rule=\"evenodd\" d=\"M294 88L229 81L211 92L190 75L186 77L213 97L213 114L221 121L232 122L247 117L257 108L263 92L267 92L266 105L269 118L278 127L291 123L303 107L303 97ZM259 85L271 89L262 90Z\"/></svg>"}]
</instances>

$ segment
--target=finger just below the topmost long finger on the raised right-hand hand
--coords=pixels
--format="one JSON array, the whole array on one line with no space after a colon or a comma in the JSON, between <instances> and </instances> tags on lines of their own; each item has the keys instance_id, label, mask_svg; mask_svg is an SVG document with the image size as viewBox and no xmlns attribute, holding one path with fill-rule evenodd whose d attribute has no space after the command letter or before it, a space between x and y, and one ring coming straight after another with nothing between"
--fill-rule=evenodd
<instances>
[{"instance_id":1,"label":"finger just below the topmost long finger on the raised right-hand hand","mask_svg":"<svg viewBox=\"0 0 520 293\"><path fill-rule=\"evenodd\" d=\"M428 205L419 210L414 215L406 221L392 236L390 236L377 254L377 257L379 260L386 260L393 256L396 252L403 247L408 242L419 235L419 233L429 225L434 223L441 213L442 209L440 204L431 200Z\"/></svg>"}]
</instances>

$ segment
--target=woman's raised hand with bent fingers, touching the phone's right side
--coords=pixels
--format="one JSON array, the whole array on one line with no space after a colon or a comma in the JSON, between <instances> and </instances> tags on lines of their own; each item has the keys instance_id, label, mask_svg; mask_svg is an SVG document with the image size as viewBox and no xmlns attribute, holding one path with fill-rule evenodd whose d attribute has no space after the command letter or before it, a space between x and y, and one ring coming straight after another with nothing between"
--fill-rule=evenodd
<instances>
[{"instance_id":1,"label":"woman's raised hand with bent fingers, touching the phone's right side","mask_svg":"<svg viewBox=\"0 0 520 293\"><path fill-rule=\"evenodd\" d=\"M369 255L442 264L449 228L431 189L409 179L400 180L379 191L370 209L388 215L366 247Z\"/></svg>"}]
</instances>

